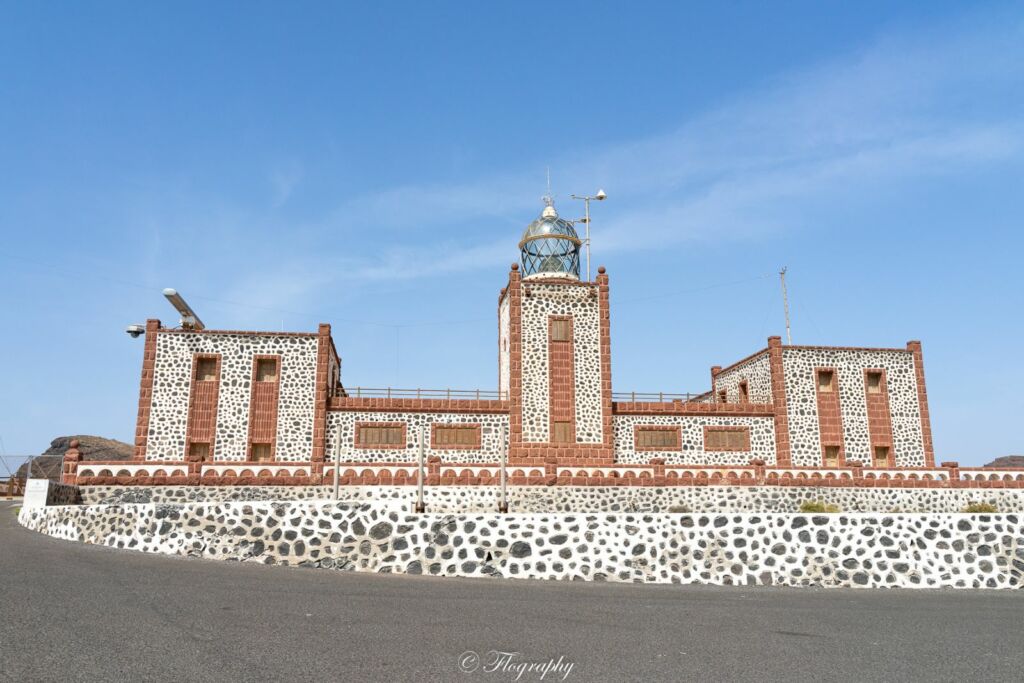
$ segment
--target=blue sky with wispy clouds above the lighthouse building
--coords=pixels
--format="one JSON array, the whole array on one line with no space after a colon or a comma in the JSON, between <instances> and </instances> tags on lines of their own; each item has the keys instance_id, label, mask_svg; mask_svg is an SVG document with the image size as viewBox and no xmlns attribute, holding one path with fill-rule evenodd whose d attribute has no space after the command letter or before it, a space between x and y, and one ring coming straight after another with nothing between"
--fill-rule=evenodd
<instances>
[{"instance_id":1,"label":"blue sky with wispy clouds above the lighthouse building","mask_svg":"<svg viewBox=\"0 0 1024 683\"><path fill-rule=\"evenodd\" d=\"M1024 7L0 5L0 438L131 440L175 287L334 326L346 385L494 388L545 169L603 187L616 390L924 342L937 457L1024 452Z\"/></svg>"}]
</instances>

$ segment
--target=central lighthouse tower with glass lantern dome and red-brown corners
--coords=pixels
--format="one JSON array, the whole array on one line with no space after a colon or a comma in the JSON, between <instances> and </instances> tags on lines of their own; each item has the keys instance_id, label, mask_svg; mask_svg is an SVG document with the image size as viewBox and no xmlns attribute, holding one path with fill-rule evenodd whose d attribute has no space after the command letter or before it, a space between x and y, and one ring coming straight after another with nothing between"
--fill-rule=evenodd
<instances>
[{"instance_id":1,"label":"central lighthouse tower with glass lantern dome and red-brown corners","mask_svg":"<svg viewBox=\"0 0 1024 683\"><path fill-rule=\"evenodd\" d=\"M608 276L601 267L594 282L580 280L580 246L545 198L499 299L512 465L612 462Z\"/></svg>"}]
</instances>

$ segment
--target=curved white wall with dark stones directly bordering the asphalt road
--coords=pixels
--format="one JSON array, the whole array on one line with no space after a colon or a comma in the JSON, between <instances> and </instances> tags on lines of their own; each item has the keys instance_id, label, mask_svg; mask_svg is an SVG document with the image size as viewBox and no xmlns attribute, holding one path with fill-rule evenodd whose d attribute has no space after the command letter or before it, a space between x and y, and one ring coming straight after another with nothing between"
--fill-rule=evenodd
<instances>
[{"instance_id":1,"label":"curved white wall with dark stones directly bordering the asphalt road","mask_svg":"<svg viewBox=\"0 0 1024 683\"><path fill-rule=\"evenodd\" d=\"M23 509L69 541L341 570L737 586L1019 588L1018 515L409 514L334 503Z\"/></svg>"}]
</instances>

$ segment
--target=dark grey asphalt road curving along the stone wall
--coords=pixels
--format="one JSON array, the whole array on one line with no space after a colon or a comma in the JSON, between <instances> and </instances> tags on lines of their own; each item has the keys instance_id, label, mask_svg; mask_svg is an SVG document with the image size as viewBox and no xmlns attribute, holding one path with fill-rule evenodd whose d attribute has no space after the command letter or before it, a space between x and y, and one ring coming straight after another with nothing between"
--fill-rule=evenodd
<instances>
[{"instance_id":1,"label":"dark grey asphalt road curving along the stone wall","mask_svg":"<svg viewBox=\"0 0 1024 683\"><path fill-rule=\"evenodd\" d=\"M1024 591L721 589L267 567L56 541L22 528L13 507L0 506L4 681L497 682L559 657L545 681L1024 677ZM478 658L463 656L470 650ZM503 660L492 651L518 654ZM476 669L464 673L460 663ZM540 678L522 670L518 680Z\"/></svg>"}]
</instances>

